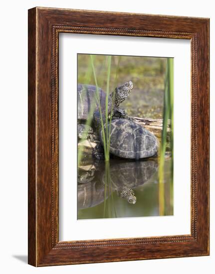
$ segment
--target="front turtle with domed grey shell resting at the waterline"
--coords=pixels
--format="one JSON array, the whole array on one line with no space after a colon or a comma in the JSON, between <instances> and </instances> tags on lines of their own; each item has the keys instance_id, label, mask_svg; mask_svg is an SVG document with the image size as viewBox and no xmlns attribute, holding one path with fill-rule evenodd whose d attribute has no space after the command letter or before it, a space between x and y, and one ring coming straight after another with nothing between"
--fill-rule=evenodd
<instances>
[{"instance_id":1,"label":"front turtle with domed grey shell resting at the waterline","mask_svg":"<svg viewBox=\"0 0 215 274\"><path fill-rule=\"evenodd\" d=\"M111 127L111 128L110 128ZM127 159L142 159L157 155L159 141L151 132L127 119L115 119L104 125L110 132L110 153ZM104 159L103 134L100 131L100 143L93 149L92 156Z\"/></svg>"}]
</instances>

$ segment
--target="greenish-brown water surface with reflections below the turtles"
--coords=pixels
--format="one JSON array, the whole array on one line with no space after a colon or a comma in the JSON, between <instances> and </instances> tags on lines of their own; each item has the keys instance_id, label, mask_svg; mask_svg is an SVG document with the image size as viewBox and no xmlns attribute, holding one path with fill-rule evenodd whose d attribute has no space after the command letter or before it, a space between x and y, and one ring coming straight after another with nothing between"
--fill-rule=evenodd
<instances>
[{"instance_id":1,"label":"greenish-brown water surface with reflections below the turtles","mask_svg":"<svg viewBox=\"0 0 215 274\"><path fill-rule=\"evenodd\" d=\"M166 160L162 215L173 215L170 165L171 161ZM82 166L78 170L77 218L160 216L159 188L157 159L111 159L107 167L104 162L96 167Z\"/></svg>"}]
</instances>

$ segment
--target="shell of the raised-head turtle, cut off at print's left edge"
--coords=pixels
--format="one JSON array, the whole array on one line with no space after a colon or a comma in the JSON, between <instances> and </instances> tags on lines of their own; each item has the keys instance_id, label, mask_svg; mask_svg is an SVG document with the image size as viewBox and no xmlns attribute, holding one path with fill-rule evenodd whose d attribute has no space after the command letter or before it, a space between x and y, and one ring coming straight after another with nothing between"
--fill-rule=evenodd
<instances>
[{"instance_id":1,"label":"shell of the raised-head turtle, cut off at print's left edge","mask_svg":"<svg viewBox=\"0 0 215 274\"><path fill-rule=\"evenodd\" d=\"M99 104L96 96L96 86L78 84L78 120L86 120L90 111L99 110ZM102 112L105 111L106 94L98 88L99 100ZM108 110L111 108L111 98L108 98ZM90 110L90 108L92 109Z\"/></svg>"}]
</instances>

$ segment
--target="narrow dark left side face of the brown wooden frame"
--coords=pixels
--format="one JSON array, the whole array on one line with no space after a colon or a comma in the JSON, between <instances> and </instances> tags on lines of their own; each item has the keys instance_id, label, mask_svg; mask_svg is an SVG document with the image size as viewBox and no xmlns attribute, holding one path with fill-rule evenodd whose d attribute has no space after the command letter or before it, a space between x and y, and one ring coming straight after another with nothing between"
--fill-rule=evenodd
<instances>
[{"instance_id":1,"label":"narrow dark left side face of the brown wooden frame","mask_svg":"<svg viewBox=\"0 0 215 274\"><path fill-rule=\"evenodd\" d=\"M28 264L36 249L36 8L28 10Z\"/></svg>"}]
</instances>

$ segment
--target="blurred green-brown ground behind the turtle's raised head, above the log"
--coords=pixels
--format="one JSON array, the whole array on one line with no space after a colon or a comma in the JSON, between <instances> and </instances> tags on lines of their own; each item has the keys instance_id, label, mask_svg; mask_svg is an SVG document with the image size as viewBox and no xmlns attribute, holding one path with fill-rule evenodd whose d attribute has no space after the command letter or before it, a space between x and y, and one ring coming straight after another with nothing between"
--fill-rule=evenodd
<instances>
[{"instance_id":1,"label":"blurred green-brown ground behind the turtle's raised head, above the log","mask_svg":"<svg viewBox=\"0 0 215 274\"><path fill-rule=\"evenodd\" d=\"M167 58L112 56L110 92L131 80L130 96L120 105L129 116L162 118ZM98 86L107 86L107 56L94 55ZM115 79L117 73L117 79ZM78 54L78 83L95 85L90 55Z\"/></svg>"}]
</instances>

